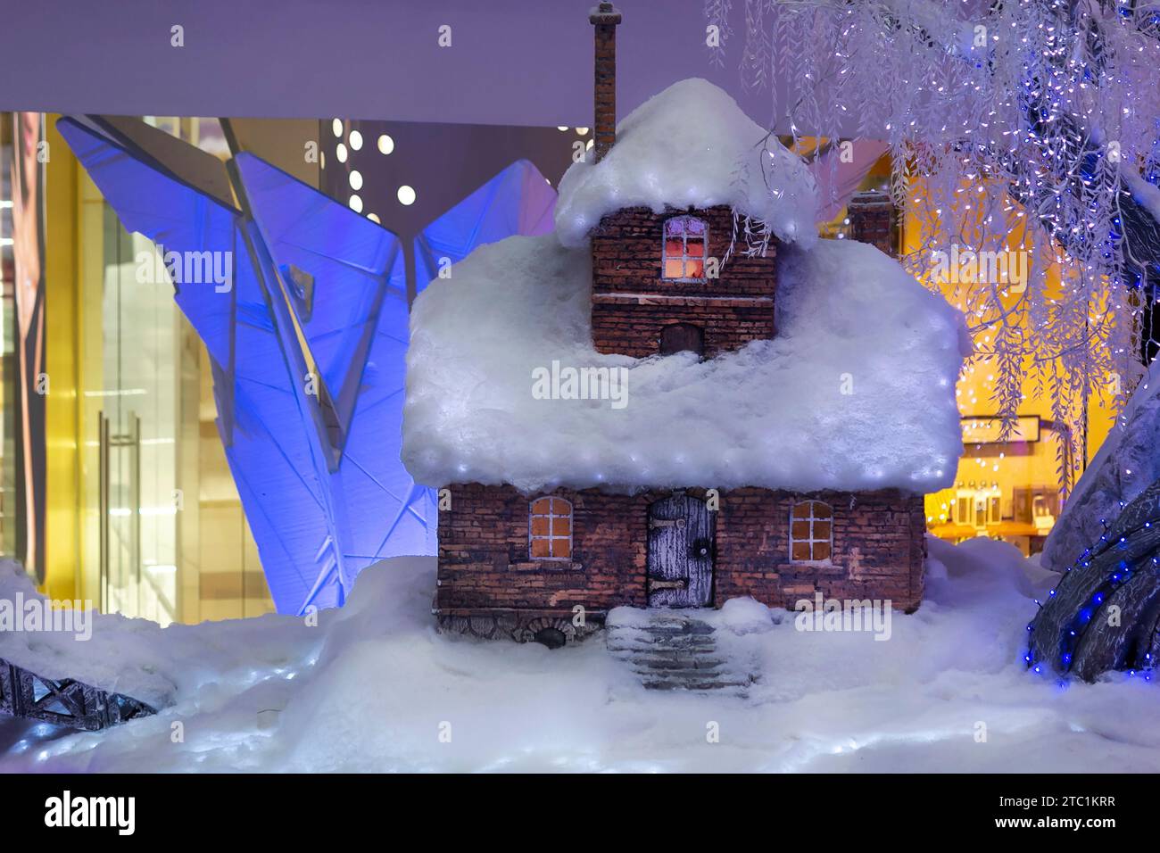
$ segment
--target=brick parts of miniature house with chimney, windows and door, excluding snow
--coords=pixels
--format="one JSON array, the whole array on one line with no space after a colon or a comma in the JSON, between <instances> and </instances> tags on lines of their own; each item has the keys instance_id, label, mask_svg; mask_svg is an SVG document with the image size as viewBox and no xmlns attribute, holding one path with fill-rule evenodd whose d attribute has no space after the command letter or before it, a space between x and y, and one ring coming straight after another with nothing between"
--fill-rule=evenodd
<instances>
[{"instance_id":1,"label":"brick parts of miniature house with chimney, windows and door, excluding snow","mask_svg":"<svg viewBox=\"0 0 1160 853\"><path fill-rule=\"evenodd\" d=\"M590 20L599 159L615 139L619 14L601 3ZM879 201L851 203L850 216L856 229L882 239L890 216ZM858 219L862 207L875 215L869 223ZM712 359L775 337L777 246L719 265L732 232L727 205L661 214L632 207L606 216L590 234L596 350L633 357L693 350ZM636 484L622 485L633 491ZM833 599L890 599L913 610L922 598L920 494L718 492L694 483L542 494L452 483L442 494L435 613L448 630L554 645L599 627L622 605L713 607L751 595L792 608L820 591Z\"/></svg>"}]
</instances>

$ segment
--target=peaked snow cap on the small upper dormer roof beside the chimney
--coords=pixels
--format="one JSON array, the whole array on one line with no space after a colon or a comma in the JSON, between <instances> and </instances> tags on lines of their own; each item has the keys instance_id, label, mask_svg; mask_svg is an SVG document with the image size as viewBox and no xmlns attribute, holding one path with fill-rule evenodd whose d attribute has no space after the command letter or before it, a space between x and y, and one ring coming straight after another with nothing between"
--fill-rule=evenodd
<instances>
[{"instance_id":1,"label":"peaked snow cap on the small upper dormer roof beside the chimney","mask_svg":"<svg viewBox=\"0 0 1160 853\"><path fill-rule=\"evenodd\" d=\"M645 205L728 204L764 222L784 243L817 239L813 175L777 137L708 80L673 84L617 125L599 164L573 164L560 181L556 232L581 246L601 217Z\"/></svg>"}]
</instances>

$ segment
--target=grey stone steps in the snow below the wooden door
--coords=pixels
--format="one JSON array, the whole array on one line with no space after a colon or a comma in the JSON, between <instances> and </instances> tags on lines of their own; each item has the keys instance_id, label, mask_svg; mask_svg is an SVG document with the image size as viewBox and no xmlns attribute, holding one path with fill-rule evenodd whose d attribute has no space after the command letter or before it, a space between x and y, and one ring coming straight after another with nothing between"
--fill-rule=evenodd
<instances>
[{"instance_id":1,"label":"grey stone steps in the snow below the wooden door","mask_svg":"<svg viewBox=\"0 0 1160 853\"><path fill-rule=\"evenodd\" d=\"M693 615L653 610L631 622L611 622L604 642L646 689L745 695L755 680L717 649L712 626Z\"/></svg>"}]
</instances>

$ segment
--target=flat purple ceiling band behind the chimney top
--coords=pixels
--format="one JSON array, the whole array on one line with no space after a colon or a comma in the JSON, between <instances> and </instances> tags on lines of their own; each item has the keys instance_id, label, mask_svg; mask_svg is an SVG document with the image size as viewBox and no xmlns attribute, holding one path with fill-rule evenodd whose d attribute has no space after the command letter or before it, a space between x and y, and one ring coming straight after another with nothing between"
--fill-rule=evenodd
<instances>
[{"instance_id":1,"label":"flat purple ceiling band behind the chimney top","mask_svg":"<svg viewBox=\"0 0 1160 853\"><path fill-rule=\"evenodd\" d=\"M0 109L592 124L593 0L6 2ZM704 46L703 0L623 0L618 111L687 77L759 122L768 93ZM734 22L734 28L740 24ZM184 46L171 46L171 27ZM451 46L438 28L451 27Z\"/></svg>"}]
</instances>

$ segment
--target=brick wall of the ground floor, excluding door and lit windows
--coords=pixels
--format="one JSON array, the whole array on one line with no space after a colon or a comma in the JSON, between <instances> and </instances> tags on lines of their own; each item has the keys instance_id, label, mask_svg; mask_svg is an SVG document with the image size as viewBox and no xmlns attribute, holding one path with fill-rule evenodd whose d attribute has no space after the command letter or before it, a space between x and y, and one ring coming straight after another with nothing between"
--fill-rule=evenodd
<instances>
[{"instance_id":1,"label":"brick wall of the ground floor, excluding door and lit windows","mask_svg":"<svg viewBox=\"0 0 1160 853\"><path fill-rule=\"evenodd\" d=\"M436 607L442 612L512 608L564 614L574 605L589 612L647 605L648 504L667 492L552 492L573 506L572 561L556 563L528 557L528 501L539 496L479 484L452 485L450 491L451 508L438 520ZM833 507L834 551L828 563L789 559L790 511L805 497ZM798 599L821 591L836 599L889 598L894 607L913 610L922 600L923 534L921 496L722 492L713 603L752 595L792 609Z\"/></svg>"}]
</instances>

